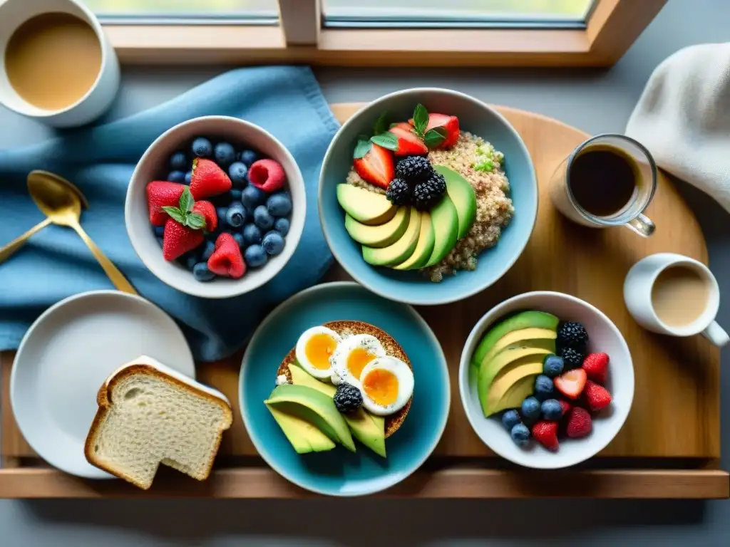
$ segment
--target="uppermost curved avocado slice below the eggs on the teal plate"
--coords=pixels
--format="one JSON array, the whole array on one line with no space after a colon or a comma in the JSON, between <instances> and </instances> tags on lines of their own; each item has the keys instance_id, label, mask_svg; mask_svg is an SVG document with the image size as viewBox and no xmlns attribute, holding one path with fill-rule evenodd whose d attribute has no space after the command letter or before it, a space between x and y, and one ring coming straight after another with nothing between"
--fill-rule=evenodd
<instances>
[{"instance_id":1,"label":"uppermost curved avocado slice below the eggs on the teal plate","mask_svg":"<svg viewBox=\"0 0 730 547\"><path fill-rule=\"evenodd\" d=\"M337 411L332 397L323 392L312 387L283 384L275 387L264 403L311 422L332 441L356 451L347 422Z\"/></svg>"}]
</instances>

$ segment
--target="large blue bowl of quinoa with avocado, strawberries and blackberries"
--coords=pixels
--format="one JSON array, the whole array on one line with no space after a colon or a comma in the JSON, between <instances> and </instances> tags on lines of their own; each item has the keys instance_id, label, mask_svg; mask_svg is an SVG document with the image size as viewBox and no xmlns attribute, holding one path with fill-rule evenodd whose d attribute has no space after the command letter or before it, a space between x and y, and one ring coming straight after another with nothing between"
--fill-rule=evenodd
<instances>
[{"instance_id":1,"label":"large blue bowl of quinoa with avocado, strawberries and blackberries","mask_svg":"<svg viewBox=\"0 0 730 547\"><path fill-rule=\"evenodd\" d=\"M457 132L443 131L440 141L439 135L426 132L424 137L424 132L419 130L417 121L414 121L418 120L417 106L428 113L439 113L436 116L456 117ZM364 141L373 132L378 134L377 126L383 127L383 119L387 122L385 128L394 123L404 125L403 120L410 120L411 132L420 135L423 142L429 144L430 150L423 150L419 155L426 158L437 173L456 174L458 179L468 182L469 193L475 199L474 212L469 212L469 208L458 200L452 200L456 203L459 216L458 237L451 234L453 238L449 238L447 234L445 239L448 241L444 243L442 237L439 247L437 231L437 249L426 262L411 259L410 263L414 263L411 265L418 266L415 268L400 268L409 264L409 260L400 262L401 255L393 263L393 260L379 260L380 255L383 255L382 249L366 252L367 245L353 239L355 236L352 234L355 232L350 228L357 222L348 218L345 227L349 212L345 212L338 201L341 190L338 186L341 185L387 194L393 205L397 204L399 209L406 208L412 212L405 238L412 231L412 224L417 217L423 222L430 218L434 225L439 224L437 217L439 221L443 219L441 209L444 207L439 197L433 195L439 192L439 185L443 186L438 182L438 174L433 175L436 178L419 175L416 182L394 182L398 178L405 179L413 172L401 163L406 154L398 150L399 147L401 150L410 147L408 138L404 144L400 136L396 139L398 144L388 139L373 138L372 143L368 144ZM448 125L449 129L453 128L452 125ZM404 127L408 128L407 125ZM429 141L429 136L437 137L437 144L433 147L431 144L434 140ZM394 168L390 174L386 152L391 152L380 150L383 148L380 145L377 146L378 150L369 152L376 148L374 144L381 142L386 147L391 146ZM368 152L363 156L364 151ZM356 158L354 160L353 155ZM358 155L364 160L358 160ZM423 163L422 160L414 161L409 167L421 165L418 162ZM453 178L447 176L447 181ZM388 179L391 179L390 182ZM400 186L396 188L396 185ZM407 189L408 185L410 190ZM403 192L397 193L396 190ZM447 192L440 191L453 198L450 184ZM410 197L403 201L401 195L405 194ZM383 197L378 199L383 201ZM325 238L334 257L350 276L385 298L429 305L461 300L480 292L511 268L523 252L534 228L538 190L529 152L515 128L499 112L464 93L439 88L415 88L391 93L373 101L342 125L324 158L318 200ZM468 223L464 220L465 216L469 217ZM369 219L364 222L369 222ZM443 224L440 222L439 225L443 227ZM450 230L442 232L450 233ZM424 238L423 233L421 238ZM391 245L390 241L383 243ZM416 255L419 248L416 247ZM407 252L412 253L412 249L407 249Z\"/></svg>"}]
</instances>

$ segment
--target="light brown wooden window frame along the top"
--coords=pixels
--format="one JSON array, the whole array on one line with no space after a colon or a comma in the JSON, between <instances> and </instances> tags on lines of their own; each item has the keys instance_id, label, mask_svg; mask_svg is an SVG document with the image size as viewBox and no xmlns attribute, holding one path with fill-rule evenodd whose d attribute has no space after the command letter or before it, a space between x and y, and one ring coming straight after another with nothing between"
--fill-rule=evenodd
<instances>
[{"instance_id":1,"label":"light brown wooden window frame along the top","mask_svg":"<svg viewBox=\"0 0 730 547\"><path fill-rule=\"evenodd\" d=\"M328 28L320 0L278 0L279 25L118 24L104 28L131 64L611 66L666 0L596 0L585 29Z\"/></svg>"}]
</instances>

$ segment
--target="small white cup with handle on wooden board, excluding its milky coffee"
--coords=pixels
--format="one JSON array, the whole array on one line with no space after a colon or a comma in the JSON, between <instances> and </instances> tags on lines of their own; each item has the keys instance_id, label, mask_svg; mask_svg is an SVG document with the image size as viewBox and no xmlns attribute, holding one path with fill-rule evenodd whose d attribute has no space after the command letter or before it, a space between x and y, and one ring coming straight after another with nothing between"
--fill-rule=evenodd
<instances>
[{"instance_id":1,"label":"small white cup with handle on wooden board, excluding its milky coffee","mask_svg":"<svg viewBox=\"0 0 730 547\"><path fill-rule=\"evenodd\" d=\"M657 277L662 271L671 266L691 268L710 287L710 294L707 297L707 303L702 315L694 322L682 327L670 327L661 321L654 310L651 298ZM626 275L626 280L623 282L623 300L626 301L626 307L637 323L654 333L670 336L702 334L712 344L720 347L730 341L728 333L715 321L720 308L720 287L718 287L717 279L706 265L693 258L672 252L660 252L642 258L631 267L629 274Z\"/></svg>"}]
</instances>

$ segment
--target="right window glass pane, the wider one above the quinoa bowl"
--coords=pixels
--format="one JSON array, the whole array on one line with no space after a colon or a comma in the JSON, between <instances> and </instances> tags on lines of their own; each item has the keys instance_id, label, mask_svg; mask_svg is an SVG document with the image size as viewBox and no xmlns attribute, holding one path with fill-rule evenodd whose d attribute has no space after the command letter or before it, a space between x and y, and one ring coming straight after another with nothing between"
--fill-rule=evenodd
<instances>
[{"instance_id":1,"label":"right window glass pane, the wider one above the quinoa bowl","mask_svg":"<svg viewBox=\"0 0 730 547\"><path fill-rule=\"evenodd\" d=\"M328 21L361 23L580 23L593 0L324 0Z\"/></svg>"}]
</instances>

